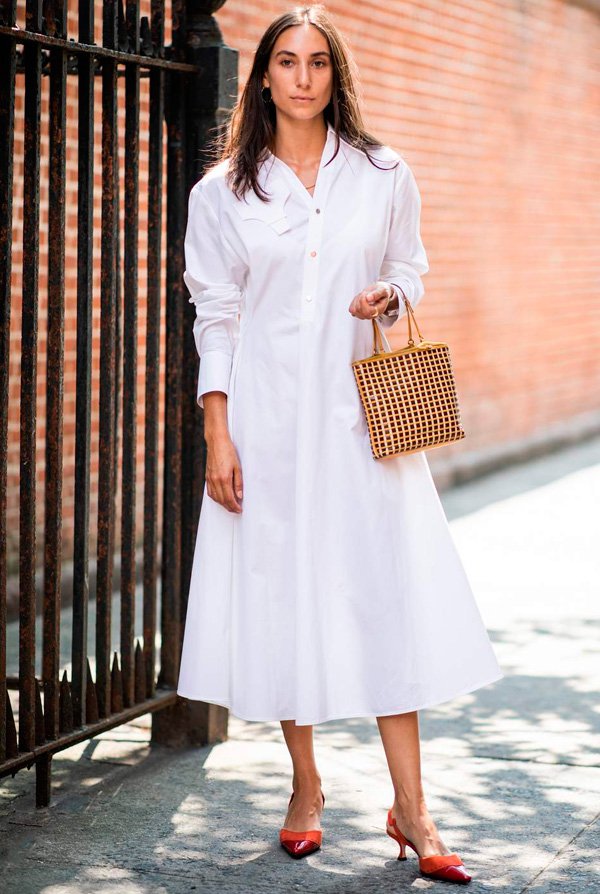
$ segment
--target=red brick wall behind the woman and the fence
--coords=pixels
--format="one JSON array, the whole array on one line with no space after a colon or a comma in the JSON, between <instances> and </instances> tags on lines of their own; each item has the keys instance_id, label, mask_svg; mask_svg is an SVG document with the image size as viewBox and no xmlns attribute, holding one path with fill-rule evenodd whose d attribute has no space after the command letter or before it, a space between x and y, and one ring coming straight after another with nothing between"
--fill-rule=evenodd
<instances>
[{"instance_id":1,"label":"red brick wall behind the woman and the fence","mask_svg":"<svg viewBox=\"0 0 600 894\"><path fill-rule=\"evenodd\" d=\"M430 261L417 318L450 344L467 437L429 454L441 483L486 462L600 427L600 14L564 0L330 2L358 63L369 130L410 164ZM24 6L24 4L19 4ZM149 2L142 4L143 12ZM256 43L287 3L229 0L217 13L240 49L240 87ZM100 22L101 4L97 4ZM122 85L122 81L120 82ZM143 95L147 81L143 81ZM47 90L47 85L45 87ZM75 102L75 82L70 87ZM97 94L98 107L100 93ZM144 100L145 102L145 100ZM45 109L47 104L45 104ZM17 115L22 111L19 79ZM47 124L44 125L47 129ZM98 121L99 127L99 121ZM97 139L99 144L100 131ZM69 131L65 358L65 558L72 540L76 147ZM22 138L16 139L9 429L9 552L18 556ZM141 171L147 169L142 146ZM99 154L97 167L99 174ZM47 165L42 167L43 209ZM98 181L99 188L99 181ZM141 201L144 255L145 203ZM47 211L43 210L43 228ZM99 222L99 218L97 218ZM98 238L94 393L99 352ZM42 233L38 482L43 508L45 270ZM140 270L139 503L143 484L144 271ZM391 336L403 343L404 324ZM93 417L94 447L97 414ZM161 427L162 451L162 427ZM92 529L97 460L92 463ZM41 524L41 522L40 522ZM40 538L42 529L40 528ZM41 545L41 543L40 543ZM92 553L93 555L93 553Z\"/></svg>"}]
</instances>

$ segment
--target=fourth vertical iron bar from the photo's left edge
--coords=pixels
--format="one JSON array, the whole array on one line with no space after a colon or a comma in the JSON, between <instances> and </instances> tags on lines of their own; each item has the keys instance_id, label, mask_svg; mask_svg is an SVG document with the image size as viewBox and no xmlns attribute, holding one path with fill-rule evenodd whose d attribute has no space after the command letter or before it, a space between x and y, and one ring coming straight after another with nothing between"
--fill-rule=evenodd
<instances>
[{"instance_id":1,"label":"fourth vertical iron bar from the photo's left edge","mask_svg":"<svg viewBox=\"0 0 600 894\"><path fill-rule=\"evenodd\" d=\"M94 0L79 3L79 40L94 39ZM78 79L77 388L75 395L75 508L73 543L73 723L86 722L89 600L90 445L92 382L92 271L94 228L94 64L82 55Z\"/></svg>"}]
</instances>

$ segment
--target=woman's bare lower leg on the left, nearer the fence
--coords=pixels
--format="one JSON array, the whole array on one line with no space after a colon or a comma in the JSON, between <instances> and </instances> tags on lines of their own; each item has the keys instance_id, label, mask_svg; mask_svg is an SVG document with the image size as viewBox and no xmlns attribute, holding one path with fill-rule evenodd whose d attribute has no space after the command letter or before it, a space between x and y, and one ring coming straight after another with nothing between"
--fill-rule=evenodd
<instances>
[{"instance_id":1,"label":"woman's bare lower leg on the left, nearer the fence","mask_svg":"<svg viewBox=\"0 0 600 894\"><path fill-rule=\"evenodd\" d=\"M321 828L321 776L313 748L312 726L296 726L295 720L281 720L281 728L292 758L294 799L283 825L294 832Z\"/></svg>"}]
</instances>

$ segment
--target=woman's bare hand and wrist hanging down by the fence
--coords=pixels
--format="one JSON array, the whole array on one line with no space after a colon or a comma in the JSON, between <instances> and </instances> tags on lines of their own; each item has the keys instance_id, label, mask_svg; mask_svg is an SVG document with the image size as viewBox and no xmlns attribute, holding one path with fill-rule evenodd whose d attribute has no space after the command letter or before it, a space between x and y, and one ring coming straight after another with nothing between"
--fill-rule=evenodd
<instances>
[{"instance_id":1,"label":"woman's bare hand and wrist hanging down by the fence","mask_svg":"<svg viewBox=\"0 0 600 894\"><path fill-rule=\"evenodd\" d=\"M230 512L241 512L242 467L227 428L227 395L210 391L203 395L206 441L206 492Z\"/></svg>"}]
</instances>

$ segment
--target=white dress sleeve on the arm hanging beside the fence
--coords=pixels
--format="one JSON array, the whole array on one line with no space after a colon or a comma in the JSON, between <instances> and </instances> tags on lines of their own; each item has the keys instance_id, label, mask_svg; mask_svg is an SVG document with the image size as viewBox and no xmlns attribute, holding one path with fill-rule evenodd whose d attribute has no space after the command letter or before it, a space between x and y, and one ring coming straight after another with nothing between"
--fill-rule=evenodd
<instances>
[{"instance_id":1,"label":"white dress sleeve on the arm hanging beside the fence","mask_svg":"<svg viewBox=\"0 0 600 894\"><path fill-rule=\"evenodd\" d=\"M185 265L183 279L189 300L196 305L194 340L200 357L196 399L204 409L205 392L229 393L247 266L227 241L201 181L189 198Z\"/></svg>"}]
</instances>

